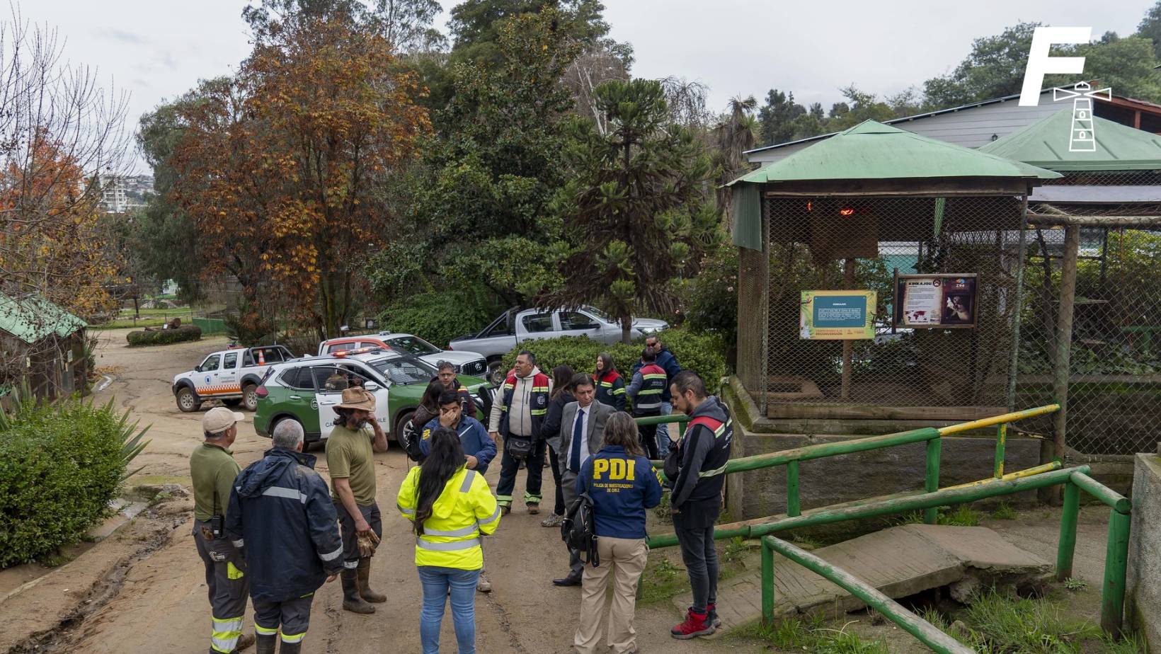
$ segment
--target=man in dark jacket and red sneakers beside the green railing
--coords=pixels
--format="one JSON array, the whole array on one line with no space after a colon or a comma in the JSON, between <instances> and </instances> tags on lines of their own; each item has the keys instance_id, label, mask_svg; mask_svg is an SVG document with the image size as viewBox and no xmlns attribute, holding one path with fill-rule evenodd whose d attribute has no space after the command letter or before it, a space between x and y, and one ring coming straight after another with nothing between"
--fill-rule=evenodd
<instances>
[{"instance_id":1,"label":"man in dark jacket and red sneakers beside the green railing","mask_svg":"<svg viewBox=\"0 0 1161 654\"><path fill-rule=\"evenodd\" d=\"M717 552L714 522L721 511L726 463L734 430L729 410L717 397L706 394L706 383L693 371L670 380L673 409L690 416L685 434L677 444L679 467L670 506L682 559L690 574L693 606L685 621L670 630L673 638L688 639L714 633L716 626Z\"/></svg>"}]
</instances>

